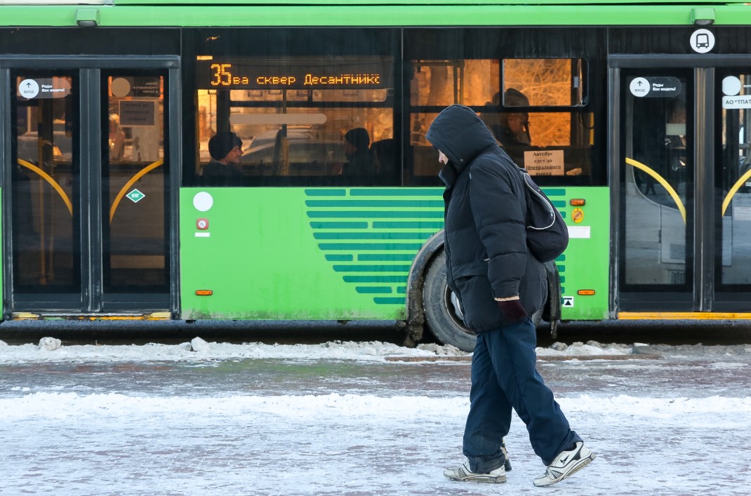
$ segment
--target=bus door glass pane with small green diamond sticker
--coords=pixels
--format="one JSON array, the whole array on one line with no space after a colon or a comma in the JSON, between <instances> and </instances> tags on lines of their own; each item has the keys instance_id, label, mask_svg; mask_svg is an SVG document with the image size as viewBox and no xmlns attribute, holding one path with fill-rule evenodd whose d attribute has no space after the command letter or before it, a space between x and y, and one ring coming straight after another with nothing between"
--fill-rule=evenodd
<instances>
[{"instance_id":1,"label":"bus door glass pane with small green diamond sticker","mask_svg":"<svg viewBox=\"0 0 751 496\"><path fill-rule=\"evenodd\" d=\"M113 71L102 156L104 293L169 291L165 77ZM105 299L117 299L112 294Z\"/></svg>"}]
</instances>

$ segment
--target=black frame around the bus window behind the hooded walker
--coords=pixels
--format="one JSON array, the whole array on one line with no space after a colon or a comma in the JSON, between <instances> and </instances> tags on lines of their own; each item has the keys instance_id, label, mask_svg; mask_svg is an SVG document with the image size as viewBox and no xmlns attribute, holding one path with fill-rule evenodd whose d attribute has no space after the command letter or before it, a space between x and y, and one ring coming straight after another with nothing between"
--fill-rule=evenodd
<instances>
[{"instance_id":1,"label":"black frame around the bus window behind the hooded walker","mask_svg":"<svg viewBox=\"0 0 751 496\"><path fill-rule=\"evenodd\" d=\"M557 38L556 38L557 37ZM584 176L535 176L535 182L543 186L605 186L608 181L607 167L607 97L605 85L593 86L592 81L605 81L607 67L605 64L605 43L595 40L605 37L605 29L599 28L521 28L521 27L466 27L466 28L413 28L405 29L403 62L406 65L406 88L409 88L409 69L413 61L451 61L466 59L496 59L499 61L499 89L503 87L503 64L505 59L571 59L581 60L584 85L581 104L572 106L529 106L501 107L511 112L529 113L568 113L572 122L575 115L593 116L593 125L583 128L590 131L590 145L566 146L547 149L581 149L587 153L587 165L590 175ZM551 43L551 39L565 40L566 43ZM453 41L452 41L453 40ZM596 62L593 62L596 61ZM490 95L489 95L490 96ZM415 114L437 114L445 105L412 105L410 95L405 95L408 118L406 126L412 123ZM462 102L457 102L462 103ZM478 105L468 107L481 113L484 109ZM587 119L578 119L587 122ZM584 125L584 124L583 124ZM409 185L442 186L439 179L425 176L413 176L414 154L407 147L412 145L409 134L405 137L405 176ZM546 148L543 148L546 149Z\"/></svg>"}]
</instances>

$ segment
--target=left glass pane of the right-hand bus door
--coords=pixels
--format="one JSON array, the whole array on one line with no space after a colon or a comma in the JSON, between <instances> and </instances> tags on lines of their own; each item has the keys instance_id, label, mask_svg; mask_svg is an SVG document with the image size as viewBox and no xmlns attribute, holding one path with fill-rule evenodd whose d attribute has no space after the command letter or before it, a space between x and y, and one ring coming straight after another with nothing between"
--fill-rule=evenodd
<instances>
[{"instance_id":1,"label":"left glass pane of the right-hand bus door","mask_svg":"<svg viewBox=\"0 0 751 496\"><path fill-rule=\"evenodd\" d=\"M691 69L621 77L620 310L692 310Z\"/></svg>"}]
</instances>

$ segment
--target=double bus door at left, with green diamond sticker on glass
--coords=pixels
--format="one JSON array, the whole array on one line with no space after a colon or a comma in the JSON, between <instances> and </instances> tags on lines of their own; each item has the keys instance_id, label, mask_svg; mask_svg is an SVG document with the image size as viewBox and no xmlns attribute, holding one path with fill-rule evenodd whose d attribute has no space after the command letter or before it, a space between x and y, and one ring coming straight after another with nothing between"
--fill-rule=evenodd
<instances>
[{"instance_id":1,"label":"double bus door at left, with green diamond sticker on glass","mask_svg":"<svg viewBox=\"0 0 751 496\"><path fill-rule=\"evenodd\" d=\"M6 316L174 311L170 64L0 60Z\"/></svg>"}]
</instances>

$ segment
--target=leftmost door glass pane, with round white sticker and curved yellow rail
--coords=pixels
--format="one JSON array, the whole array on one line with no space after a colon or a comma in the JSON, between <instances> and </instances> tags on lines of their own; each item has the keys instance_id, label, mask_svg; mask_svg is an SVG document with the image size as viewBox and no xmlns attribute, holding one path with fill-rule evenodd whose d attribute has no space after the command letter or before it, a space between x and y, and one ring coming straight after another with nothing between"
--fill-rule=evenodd
<instances>
[{"instance_id":1,"label":"leftmost door glass pane, with round white sticker and curved yellow rail","mask_svg":"<svg viewBox=\"0 0 751 496\"><path fill-rule=\"evenodd\" d=\"M24 72L11 85L17 89L11 118L14 293L76 296L81 284L77 72ZM61 305L74 305L73 300Z\"/></svg>"}]
</instances>

